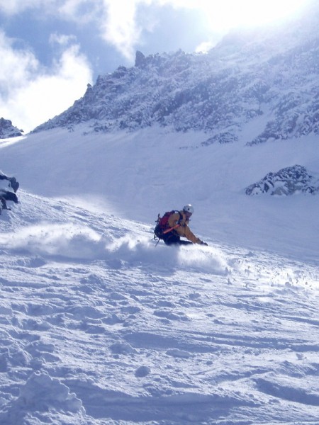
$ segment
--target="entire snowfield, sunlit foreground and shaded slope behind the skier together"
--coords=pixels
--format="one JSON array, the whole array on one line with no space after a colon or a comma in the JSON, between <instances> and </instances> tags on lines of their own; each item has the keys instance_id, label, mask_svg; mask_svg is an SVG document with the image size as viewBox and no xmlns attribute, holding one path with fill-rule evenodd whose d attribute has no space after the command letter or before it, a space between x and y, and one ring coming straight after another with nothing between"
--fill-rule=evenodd
<instances>
[{"instance_id":1,"label":"entire snowfield, sunlit foreground and shaded slope behind the skier together","mask_svg":"<svg viewBox=\"0 0 319 425\"><path fill-rule=\"evenodd\" d=\"M319 197L245 196L315 137L84 131L0 145L0 423L319 424ZM185 203L209 246L155 247Z\"/></svg>"}]
</instances>

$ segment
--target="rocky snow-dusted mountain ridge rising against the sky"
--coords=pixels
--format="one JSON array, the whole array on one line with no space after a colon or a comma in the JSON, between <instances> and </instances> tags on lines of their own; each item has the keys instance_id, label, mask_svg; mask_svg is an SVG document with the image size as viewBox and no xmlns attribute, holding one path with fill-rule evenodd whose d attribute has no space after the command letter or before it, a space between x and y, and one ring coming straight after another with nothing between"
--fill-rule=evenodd
<instances>
[{"instance_id":1,"label":"rocky snow-dusted mountain ridge rising against the sky","mask_svg":"<svg viewBox=\"0 0 319 425\"><path fill-rule=\"evenodd\" d=\"M262 123L249 145L318 134L318 22L313 4L285 26L233 32L207 55L137 52L134 67L99 76L71 108L34 131L84 122L92 132L157 124L203 130L210 144L234 142L247 123Z\"/></svg>"}]
</instances>

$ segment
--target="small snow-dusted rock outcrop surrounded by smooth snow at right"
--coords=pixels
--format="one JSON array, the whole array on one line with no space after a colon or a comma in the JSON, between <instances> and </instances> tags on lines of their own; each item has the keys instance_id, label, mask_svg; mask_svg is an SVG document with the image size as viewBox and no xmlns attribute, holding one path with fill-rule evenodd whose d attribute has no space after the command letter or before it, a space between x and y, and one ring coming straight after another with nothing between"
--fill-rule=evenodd
<instances>
[{"instance_id":1,"label":"small snow-dusted rock outcrop surrounded by smooth snow at right","mask_svg":"<svg viewBox=\"0 0 319 425\"><path fill-rule=\"evenodd\" d=\"M246 188L247 195L287 196L296 193L319 193L319 179L308 174L304 166L294 165L279 170L276 173L268 173L261 181Z\"/></svg>"}]
</instances>

